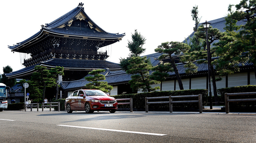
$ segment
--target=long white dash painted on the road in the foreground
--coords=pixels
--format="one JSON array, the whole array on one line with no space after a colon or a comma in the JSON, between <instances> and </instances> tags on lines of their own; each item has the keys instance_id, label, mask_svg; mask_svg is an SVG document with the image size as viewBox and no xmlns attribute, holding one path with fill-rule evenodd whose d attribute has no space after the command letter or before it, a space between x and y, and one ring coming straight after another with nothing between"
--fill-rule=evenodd
<instances>
[{"instance_id":1,"label":"long white dash painted on the road in the foreground","mask_svg":"<svg viewBox=\"0 0 256 143\"><path fill-rule=\"evenodd\" d=\"M80 127L80 126L69 126L69 125L57 125L57 126L66 126L66 127L74 127L74 128L85 128L85 129L94 129L94 130L105 130L105 131L114 131L114 132L126 132L126 133L134 133L134 134L148 134L155 136L164 136L167 134L156 134L156 133L146 133L146 132L134 132L134 131L124 131L124 130L113 130L113 129L103 129L103 128L91 128L91 127Z\"/></svg>"}]
</instances>

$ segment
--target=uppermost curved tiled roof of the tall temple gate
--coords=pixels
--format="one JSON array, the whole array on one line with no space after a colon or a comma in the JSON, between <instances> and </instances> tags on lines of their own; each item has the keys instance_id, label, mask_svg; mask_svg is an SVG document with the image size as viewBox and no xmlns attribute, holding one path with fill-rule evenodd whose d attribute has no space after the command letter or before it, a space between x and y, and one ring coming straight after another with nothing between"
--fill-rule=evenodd
<instances>
[{"instance_id":1,"label":"uppermost curved tiled roof of the tall temple gate","mask_svg":"<svg viewBox=\"0 0 256 143\"><path fill-rule=\"evenodd\" d=\"M75 27L69 27L67 24L69 23L70 20L76 19L75 16L79 13L82 13L86 17L86 21L90 21L90 23L93 24L94 29L85 29L82 28L79 30ZM61 25L65 25L66 27L60 28ZM67 28L68 27L68 28ZM100 30L101 32L98 32L95 28ZM68 30L67 30L68 29ZM103 39L115 39L120 40L119 38L122 38L125 36L125 33L123 34L114 34L114 33L108 33L101 29L98 25L96 25L90 17L84 12L84 8L81 5L78 5L78 7L72 9L65 15L62 15L58 19L52 21L51 23L46 24L45 26L42 26L42 29L37 32L35 35L29 37L28 39L17 43L17 45L14 46L9 46L10 49L16 49L20 47L21 45L23 46L25 43L30 42L31 40L38 38L39 36L42 36L44 33L43 31L50 32L50 33L55 33L55 34L61 34L61 35L70 35L70 36L82 36L82 37L91 37L91 38L103 38Z\"/></svg>"}]
</instances>

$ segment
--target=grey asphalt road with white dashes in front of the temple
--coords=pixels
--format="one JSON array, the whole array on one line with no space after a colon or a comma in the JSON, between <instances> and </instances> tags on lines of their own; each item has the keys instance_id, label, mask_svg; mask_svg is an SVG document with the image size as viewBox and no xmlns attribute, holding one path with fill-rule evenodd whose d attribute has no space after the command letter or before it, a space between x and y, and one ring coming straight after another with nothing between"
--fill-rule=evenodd
<instances>
[{"instance_id":1,"label":"grey asphalt road with white dashes in front of the temple","mask_svg":"<svg viewBox=\"0 0 256 143\"><path fill-rule=\"evenodd\" d=\"M256 114L0 112L0 142L256 142Z\"/></svg>"}]
</instances>

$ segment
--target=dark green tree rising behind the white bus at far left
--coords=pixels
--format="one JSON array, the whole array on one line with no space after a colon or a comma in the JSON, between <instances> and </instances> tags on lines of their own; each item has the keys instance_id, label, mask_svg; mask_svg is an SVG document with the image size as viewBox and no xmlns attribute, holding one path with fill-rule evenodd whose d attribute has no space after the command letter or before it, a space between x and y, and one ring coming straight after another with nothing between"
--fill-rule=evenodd
<instances>
[{"instance_id":1,"label":"dark green tree rising behind the white bus at far left","mask_svg":"<svg viewBox=\"0 0 256 143\"><path fill-rule=\"evenodd\" d=\"M7 65L6 67L3 67L3 73L9 74L11 72L12 72L12 67L10 67L9 65ZM9 87L13 87L16 83L16 79L15 78L7 78L4 74L2 74L0 83L3 83Z\"/></svg>"}]
</instances>

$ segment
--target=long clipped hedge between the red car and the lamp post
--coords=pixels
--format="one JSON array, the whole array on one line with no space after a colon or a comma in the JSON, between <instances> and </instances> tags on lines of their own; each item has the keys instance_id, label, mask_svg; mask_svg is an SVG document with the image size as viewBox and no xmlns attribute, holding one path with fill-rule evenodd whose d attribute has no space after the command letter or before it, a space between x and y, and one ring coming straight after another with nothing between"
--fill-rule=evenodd
<instances>
[{"instance_id":1,"label":"long clipped hedge between the red car and the lamp post","mask_svg":"<svg viewBox=\"0 0 256 143\"><path fill-rule=\"evenodd\" d=\"M138 94L124 94L112 96L116 99L121 98L132 98L134 111L145 111L145 97L163 97L163 96L184 96L184 95L198 95L202 94L203 106L206 106L208 91L205 89L197 90L176 90L176 91L155 91L155 92L145 92ZM181 100L198 100L198 98L175 98L172 101ZM169 101L169 99L159 99L159 100L148 100L149 102L156 101ZM118 102L128 102L128 101L118 101ZM181 110L198 110L198 104L196 103L178 103L172 104L173 111ZM119 105L118 108L130 108L130 105ZM169 104L149 104L149 111L169 111Z\"/></svg>"}]
</instances>

